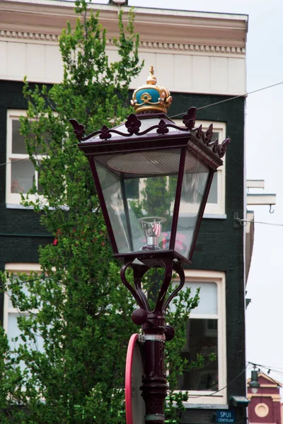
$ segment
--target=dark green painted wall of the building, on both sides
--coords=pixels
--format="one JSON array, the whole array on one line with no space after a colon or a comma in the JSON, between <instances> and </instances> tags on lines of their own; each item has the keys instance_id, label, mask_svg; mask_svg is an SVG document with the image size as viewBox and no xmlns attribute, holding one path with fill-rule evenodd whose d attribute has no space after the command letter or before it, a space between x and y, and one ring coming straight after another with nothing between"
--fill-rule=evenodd
<instances>
[{"instance_id":1,"label":"dark green painted wall of the building, on both sides","mask_svg":"<svg viewBox=\"0 0 283 424\"><path fill-rule=\"evenodd\" d=\"M0 163L6 162L6 110L25 109L23 83L0 81ZM191 106L203 107L226 99L219 95L187 95L173 93L168 115L186 112ZM230 395L246 394L246 375L236 378L245 368L245 293L243 281L243 228L233 228L233 213L243 216L243 124L245 99L236 98L197 112L197 119L226 122L226 136L232 143L226 153L226 219L204 219L192 258L193 269L212 269L226 272L226 341L227 382ZM180 119L178 117L178 119ZM177 119L177 117L176 117ZM39 225L33 211L6 209L6 167L0 166L0 269L7 262L37 262L37 247L52 242ZM13 234L3 236L1 234ZM19 237L18 234L28 234ZM33 236L31 236L33 235ZM36 235L36 237L35 237ZM42 237L38 237L41 235ZM0 316L3 315L0 300ZM233 382L235 379L235 382ZM209 399L207 401L209 404ZM192 417L190 410L187 411ZM186 413L186 414L187 414ZM201 413L201 411L198 411ZM203 412L204 413L204 412ZM206 415L205 415L206 414ZM207 416L205 413L204 416ZM191 422L185 418L185 422ZM204 418L206 420L207 418ZM196 421L196 422L201 422Z\"/></svg>"}]
</instances>

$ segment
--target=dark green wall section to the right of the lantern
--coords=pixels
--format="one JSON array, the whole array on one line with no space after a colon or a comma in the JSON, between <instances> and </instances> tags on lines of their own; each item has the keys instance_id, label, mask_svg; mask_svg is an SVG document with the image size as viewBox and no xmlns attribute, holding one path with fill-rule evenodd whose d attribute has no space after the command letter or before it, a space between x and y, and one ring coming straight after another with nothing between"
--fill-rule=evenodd
<instances>
[{"instance_id":1,"label":"dark green wall section to the right of the lantern","mask_svg":"<svg viewBox=\"0 0 283 424\"><path fill-rule=\"evenodd\" d=\"M169 116L189 107L203 107L226 99L219 95L173 93ZM181 115L182 116L182 115ZM226 152L226 219L203 219L192 257L192 269L212 269L226 273L226 346L227 388L231 395L246 395L245 286L243 268L243 228L233 228L233 213L244 212L244 116L245 98L237 98L197 111L197 119L226 123L226 136L232 140ZM177 119L177 117L175 118ZM180 119L180 117L178 117ZM242 372L242 374L241 374ZM241 377L238 375L241 374ZM236 378L238 377L238 378ZM233 379L235 381L233 382ZM209 399L207 400L209 404ZM194 422L196 410L187 410L184 423ZM207 411L197 410L201 423L207 423ZM243 418L238 411L238 418ZM239 419L240 420L240 419Z\"/></svg>"}]
</instances>

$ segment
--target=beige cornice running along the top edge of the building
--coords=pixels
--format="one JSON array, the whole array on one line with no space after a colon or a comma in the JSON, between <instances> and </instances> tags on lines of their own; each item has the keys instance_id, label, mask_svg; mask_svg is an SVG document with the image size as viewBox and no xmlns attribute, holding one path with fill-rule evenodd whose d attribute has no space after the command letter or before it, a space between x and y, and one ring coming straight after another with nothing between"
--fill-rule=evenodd
<instances>
[{"instance_id":1,"label":"beige cornice running along the top edge of the building","mask_svg":"<svg viewBox=\"0 0 283 424\"><path fill-rule=\"evenodd\" d=\"M100 9L100 23L107 28L108 37L117 37L117 6L92 4L91 7ZM126 21L129 8L122 9ZM141 47L146 49L219 53L234 49L232 53L245 53L246 15L154 8L135 8L135 11L135 30L141 35ZM74 4L69 1L0 0L0 30L6 32L6 37L21 38L23 35L24 39L56 42L67 20L72 26L76 20Z\"/></svg>"}]
</instances>

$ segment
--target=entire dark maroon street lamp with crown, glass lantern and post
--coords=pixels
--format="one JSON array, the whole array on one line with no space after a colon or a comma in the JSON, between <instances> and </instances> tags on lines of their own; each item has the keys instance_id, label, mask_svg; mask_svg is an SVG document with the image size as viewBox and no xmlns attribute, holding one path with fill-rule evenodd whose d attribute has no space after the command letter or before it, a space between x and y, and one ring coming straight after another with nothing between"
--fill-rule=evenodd
<instances>
[{"instance_id":1,"label":"entire dark maroon street lamp with crown, glass lantern and post","mask_svg":"<svg viewBox=\"0 0 283 424\"><path fill-rule=\"evenodd\" d=\"M212 124L205 133L202 126L195 128L195 107L184 115L184 126L176 125L166 115L171 101L169 91L156 85L151 66L146 85L133 93L136 114L125 124L112 129L103 125L83 136L83 125L70 119L91 166L113 256L122 261L122 283L139 306L132 321L144 334L141 395L147 424L164 423L164 343L174 336L165 312L185 283L181 264L191 264L212 177L230 142L212 142ZM163 184L162 193L156 189L158 201L156 183L159 189ZM134 285L126 277L129 266ZM151 310L141 278L153 267L165 271ZM173 271L180 283L167 295Z\"/></svg>"}]
</instances>

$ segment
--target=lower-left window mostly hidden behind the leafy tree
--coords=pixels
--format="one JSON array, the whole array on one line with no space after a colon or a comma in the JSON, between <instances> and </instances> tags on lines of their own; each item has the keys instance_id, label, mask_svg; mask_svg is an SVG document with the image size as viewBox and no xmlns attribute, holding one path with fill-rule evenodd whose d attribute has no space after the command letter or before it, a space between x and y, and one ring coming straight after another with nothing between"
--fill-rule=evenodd
<instances>
[{"instance_id":1,"label":"lower-left window mostly hidden behind the leafy tree","mask_svg":"<svg viewBox=\"0 0 283 424\"><path fill-rule=\"evenodd\" d=\"M5 266L6 271L13 272L13 273L29 273L30 271L40 271L40 265L39 264L6 264ZM33 313L35 313L36 310L33 310ZM18 329L18 317L21 316L21 314L28 315L28 312L20 312L17 308L14 308L12 305L12 302L9 297L9 293L5 293L4 295L4 330L6 331L6 334L8 336L8 343L11 346L11 348L18 348L18 346L23 343L21 341L21 338L18 339L18 341L15 341L15 338L20 336L21 331ZM43 350L43 341L40 336L36 337L36 346L33 346L33 348L36 348L38 351ZM24 364L21 364L21 368L23 370Z\"/></svg>"}]
</instances>

